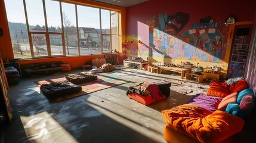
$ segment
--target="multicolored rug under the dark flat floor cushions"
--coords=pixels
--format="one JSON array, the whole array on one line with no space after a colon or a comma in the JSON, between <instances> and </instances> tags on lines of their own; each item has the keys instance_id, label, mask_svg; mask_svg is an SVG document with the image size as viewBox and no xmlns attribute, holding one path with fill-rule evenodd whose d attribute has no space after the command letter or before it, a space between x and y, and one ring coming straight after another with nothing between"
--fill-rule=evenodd
<instances>
[{"instance_id":1,"label":"multicolored rug under the dark flat floor cushions","mask_svg":"<svg viewBox=\"0 0 256 143\"><path fill-rule=\"evenodd\" d=\"M111 88L113 86L118 86L124 83L131 82L129 80L123 80L122 77L119 77L118 74L115 74L115 73L97 73L96 75L98 76L97 80L76 84L76 85L82 86L81 92L78 92L76 94L64 95L57 98L51 98L51 100L54 100L54 101L69 100L70 98L79 97L81 95L90 94L92 92L100 91L103 89ZM49 84L51 82L57 82L60 80L66 80L66 79L65 77L58 77L55 79L35 81L34 83L36 83L38 86L41 86L42 84Z\"/></svg>"}]
</instances>

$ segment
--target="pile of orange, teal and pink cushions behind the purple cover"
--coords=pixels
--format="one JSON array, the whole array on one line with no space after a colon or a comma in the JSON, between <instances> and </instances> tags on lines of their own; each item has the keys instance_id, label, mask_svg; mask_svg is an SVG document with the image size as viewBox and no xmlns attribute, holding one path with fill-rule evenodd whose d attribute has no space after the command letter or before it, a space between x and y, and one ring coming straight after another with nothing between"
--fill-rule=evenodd
<instances>
[{"instance_id":1,"label":"pile of orange, teal and pink cushions behind the purple cover","mask_svg":"<svg viewBox=\"0 0 256 143\"><path fill-rule=\"evenodd\" d=\"M233 83L229 82L229 80L226 83L211 83L206 94L223 98L218 104L218 110L243 118L255 107L254 92L249 89L245 79L237 80L232 78L231 81Z\"/></svg>"}]
</instances>

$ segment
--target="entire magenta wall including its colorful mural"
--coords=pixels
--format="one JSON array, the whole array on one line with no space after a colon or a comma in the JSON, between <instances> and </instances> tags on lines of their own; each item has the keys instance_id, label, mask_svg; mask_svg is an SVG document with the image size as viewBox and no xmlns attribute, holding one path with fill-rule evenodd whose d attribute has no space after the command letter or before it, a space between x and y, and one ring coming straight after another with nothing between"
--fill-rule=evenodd
<instances>
[{"instance_id":1,"label":"entire magenta wall including its colorful mural","mask_svg":"<svg viewBox=\"0 0 256 143\"><path fill-rule=\"evenodd\" d=\"M200 66L205 67L218 64L226 72L230 56L230 49L227 49L230 46L227 42L230 38L228 35L230 26L226 26L224 21L230 15L240 24L253 21L255 4L254 0L243 2L216 0L209 4L202 0L196 2L150 0L129 7L126 20L127 57L164 57L164 63L171 63L173 61L170 59L177 59L192 63L202 62ZM170 26L166 22L167 17L177 13L189 15L186 25L178 30L175 26L178 27L180 24ZM213 23L208 22L205 26L203 25L205 23L201 23L201 19L206 16L210 16ZM177 19L173 20L174 23L175 20ZM146 31L149 32L148 36ZM139 41L143 44L138 44ZM225 78L226 76L223 76L223 79Z\"/></svg>"}]
</instances>

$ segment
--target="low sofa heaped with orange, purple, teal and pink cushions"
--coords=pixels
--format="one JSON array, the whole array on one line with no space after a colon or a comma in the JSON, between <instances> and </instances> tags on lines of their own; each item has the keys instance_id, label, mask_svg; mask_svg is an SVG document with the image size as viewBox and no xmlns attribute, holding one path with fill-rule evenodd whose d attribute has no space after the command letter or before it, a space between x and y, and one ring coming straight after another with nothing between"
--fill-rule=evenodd
<instances>
[{"instance_id":1,"label":"low sofa heaped with orange, purple, teal and pink cushions","mask_svg":"<svg viewBox=\"0 0 256 143\"><path fill-rule=\"evenodd\" d=\"M229 138L243 129L243 118L253 110L254 92L245 79L232 85L213 82L206 94L187 104L162 111L166 142L236 142Z\"/></svg>"}]
</instances>

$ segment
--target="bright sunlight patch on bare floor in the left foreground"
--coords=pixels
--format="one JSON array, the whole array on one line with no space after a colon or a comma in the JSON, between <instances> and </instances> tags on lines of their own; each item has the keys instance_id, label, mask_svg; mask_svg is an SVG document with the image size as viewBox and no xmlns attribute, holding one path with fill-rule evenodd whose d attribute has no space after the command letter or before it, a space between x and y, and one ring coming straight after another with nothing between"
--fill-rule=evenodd
<instances>
[{"instance_id":1,"label":"bright sunlight patch on bare floor in the left foreground","mask_svg":"<svg viewBox=\"0 0 256 143\"><path fill-rule=\"evenodd\" d=\"M78 142L65 129L69 125L61 126L46 111L32 116L20 116L20 119L30 142Z\"/></svg>"}]
</instances>

